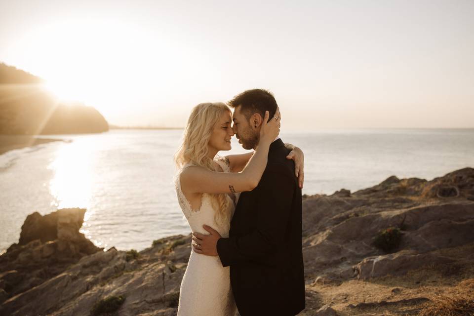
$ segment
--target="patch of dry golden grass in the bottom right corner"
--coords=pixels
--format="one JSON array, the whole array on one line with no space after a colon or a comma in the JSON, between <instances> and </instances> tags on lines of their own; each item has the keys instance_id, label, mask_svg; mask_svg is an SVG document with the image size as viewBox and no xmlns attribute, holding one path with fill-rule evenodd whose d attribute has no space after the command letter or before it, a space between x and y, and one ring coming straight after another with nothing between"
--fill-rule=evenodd
<instances>
[{"instance_id":1,"label":"patch of dry golden grass in the bottom right corner","mask_svg":"<svg viewBox=\"0 0 474 316\"><path fill-rule=\"evenodd\" d=\"M474 299L466 297L439 296L420 311L419 316L473 316Z\"/></svg>"}]
</instances>

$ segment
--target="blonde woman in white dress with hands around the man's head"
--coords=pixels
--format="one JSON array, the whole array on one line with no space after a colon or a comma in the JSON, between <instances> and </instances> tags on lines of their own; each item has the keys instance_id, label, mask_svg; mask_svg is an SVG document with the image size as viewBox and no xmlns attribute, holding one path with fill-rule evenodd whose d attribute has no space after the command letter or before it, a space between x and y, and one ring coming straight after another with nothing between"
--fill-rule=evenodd
<instances>
[{"instance_id":1,"label":"blonde woman in white dress with hands around the man's head","mask_svg":"<svg viewBox=\"0 0 474 316\"><path fill-rule=\"evenodd\" d=\"M220 158L217 153L231 150L234 136L230 108L224 103L201 103L192 110L175 155L179 169L175 181L179 205L193 232L206 234L202 229L206 224L229 237L240 192L258 185L270 144L279 134L279 111L270 121L268 118L267 111L255 152ZM301 161L302 152L286 146L293 150L288 158ZM295 169L299 167L296 164ZM218 256L191 251L181 282L178 316L234 316L237 307L229 274L229 267L223 267Z\"/></svg>"}]
</instances>

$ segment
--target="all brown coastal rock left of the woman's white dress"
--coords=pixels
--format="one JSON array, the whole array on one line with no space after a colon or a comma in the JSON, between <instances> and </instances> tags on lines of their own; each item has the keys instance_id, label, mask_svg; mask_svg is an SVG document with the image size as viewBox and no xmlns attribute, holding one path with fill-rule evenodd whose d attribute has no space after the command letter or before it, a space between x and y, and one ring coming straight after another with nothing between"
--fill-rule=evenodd
<instances>
[{"instance_id":1,"label":"all brown coastal rock left of the woman's white dress","mask_svg":"<svg viewBox=\"0 0 474 316\"><path fill-rule=\"evenodd\" d=\"M25 246L13 244L0 257L1 267L8 264L0 274L0 288L4 289L1 315L89 315L96 302L114 295L125 297L121 310L130 315L153 311L159 311L153 315L176 315L179 287L191 253L191 235L156 240L139 253L115 247L103 251L86 246L78 232L83 209L61 209L42 218L35 214L29 215L22 227L25 240L35 239ZM40 227L53 231L42 234ZM51 238L56 239L46 241ZM44 256L55 259L45 262ZM18 257L30 261L15 259ZM39 269L28 273L33 267ZM56 270L44 272L52 267ZM26 279L30 280L29 286L16 286L16 282ZM36 280L35 284L31 280Z\"/></svg>"}]
</instances>

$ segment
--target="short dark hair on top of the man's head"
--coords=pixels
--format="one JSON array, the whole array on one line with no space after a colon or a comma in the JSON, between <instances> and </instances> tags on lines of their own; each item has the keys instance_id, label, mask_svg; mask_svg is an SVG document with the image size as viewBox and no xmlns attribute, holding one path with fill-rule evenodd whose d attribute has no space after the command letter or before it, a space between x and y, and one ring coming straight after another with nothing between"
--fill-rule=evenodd
<instances>
[{"instance_id":1,"label":"short dark hair on top of the man's head","mask_svg":"<svg viewBox=\"0 0 474 316\"><path fill-rule=\"evenodd\" d=\"M270 112L268 118L270 120L274 117L276 108L278 107L273 93L264 89L243 91L237 94L228 104L232 108L240 106L240 112L247 120L249 120L254 113L259 113L262 118L264 118L265 111Z\"/></svg>"}]
</instances>

